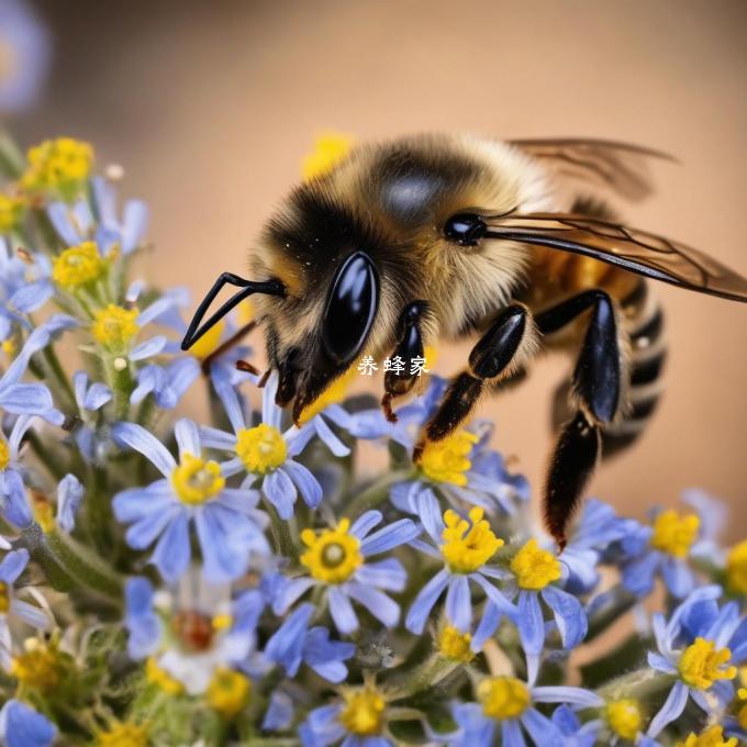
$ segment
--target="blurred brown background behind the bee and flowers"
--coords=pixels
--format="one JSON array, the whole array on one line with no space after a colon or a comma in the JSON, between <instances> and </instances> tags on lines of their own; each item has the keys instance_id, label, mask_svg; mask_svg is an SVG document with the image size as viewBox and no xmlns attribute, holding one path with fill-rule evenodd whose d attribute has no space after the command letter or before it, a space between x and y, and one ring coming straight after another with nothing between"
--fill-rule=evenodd
<instances>
[{"instance_id":1,"label":"blurred brown background behind the bee and flowers","mask_svg":"<svg viewBox=\"0 0 747 747\"><path fill-rule=\"evenodd\" d=\"M92 141L146 199L149 277L196 296L246 247L298 179L315 133L468 130L597 136L669 150L659 193L621 205L634 225L701 247L747 275L747 3L498 0L197 0L37 3L55 34L25 142ZM747 528L747 309L661 287L668 393L639 445L592 492L637 515L700 486ZM461 350L464 356L465 349ZM444 354L439 370L464 357ZM545 360L484 414L539 487L549 398L568 369Z\"/></svg>"}]
</instances>

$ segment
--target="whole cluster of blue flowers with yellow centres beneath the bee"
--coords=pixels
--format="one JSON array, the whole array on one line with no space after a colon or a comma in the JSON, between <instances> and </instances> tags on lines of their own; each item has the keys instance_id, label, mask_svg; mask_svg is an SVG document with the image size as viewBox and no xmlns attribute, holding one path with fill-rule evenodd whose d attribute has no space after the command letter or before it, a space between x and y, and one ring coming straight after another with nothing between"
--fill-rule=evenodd
<instances>
[{"instance_id":1,"label":"whole cluster of blue flowers with yellow centres beneath the bee","mask_svg":"<svg viewBox=\"0 0 747 747\"><path fill-rule=\"evenodd\" d=\"M179 349L188 293L132 278L147 210L89 144L0 164L2 744L747 736L747 544L721 545L711 499L645 523L589 500L558 554L491 423L413 465L435 374L394 423L348 375L292 424L277 374L222 345L248 306ZM191 390L210 421L175 415Z\"/></svg>"}]
</instances>

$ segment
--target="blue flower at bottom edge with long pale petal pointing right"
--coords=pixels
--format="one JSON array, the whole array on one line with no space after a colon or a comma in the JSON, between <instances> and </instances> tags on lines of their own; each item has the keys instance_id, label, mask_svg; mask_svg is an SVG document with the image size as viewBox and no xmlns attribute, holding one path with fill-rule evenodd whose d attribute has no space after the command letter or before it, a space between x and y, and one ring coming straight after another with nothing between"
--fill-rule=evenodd
<instances>
[{"instance_id":1,"label":"blue flower at bottom edge with long pale petal pointing right","mask_svg":"<svg viewBox=\"0 0 747 747\"><path fill-rule=\"evenodd\" d=\"M524 747L522 731L532 737L537 747L557 747L566 743L561 726L543 715L535 703L564 703L578 709L603 704L599 695L570 687L534 687L514 677L491 677L477 685L479 703L459 703L453 707L458 729L446 736L454 747ZM588 744L584 742L577 744Z\"/></svg>"}]
</instances>

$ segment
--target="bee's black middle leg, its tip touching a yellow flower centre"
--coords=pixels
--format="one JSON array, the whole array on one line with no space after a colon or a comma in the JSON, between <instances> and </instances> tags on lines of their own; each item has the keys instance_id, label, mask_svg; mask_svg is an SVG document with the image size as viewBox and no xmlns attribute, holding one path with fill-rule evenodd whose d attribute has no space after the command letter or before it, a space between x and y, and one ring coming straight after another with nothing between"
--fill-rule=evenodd
<instances>
[{"instance_id":1,"label":"bee's black middle leg, its tip touching a yellow flower centre","mask_svg":"<svg viewBox=\"0 0 747 747\"><path fill-rule=\"evenodd\" d=\"M504 309L472 348L467 370L449 384L415 445L413 460L420 460L428 442L446 438L467 420L487 388L520 371L536 346L536 327L528 309L519 303Z\"/></svg>"}]
</instances>

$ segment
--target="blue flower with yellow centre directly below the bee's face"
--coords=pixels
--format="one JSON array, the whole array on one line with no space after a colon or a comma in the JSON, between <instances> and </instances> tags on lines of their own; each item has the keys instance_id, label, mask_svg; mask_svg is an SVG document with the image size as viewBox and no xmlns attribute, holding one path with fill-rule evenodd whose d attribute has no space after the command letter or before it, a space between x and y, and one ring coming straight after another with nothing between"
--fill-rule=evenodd
<instances>
[{"instance_id":1,"label":"blue flower with yellow centre directly below the bee's face","mask_svg":"<svg viewBox=\"0 0 747 747\"><path fill-rule=\"evenodd\" d=\"M261 479L263 494L281 519L289 520L293 515L299 492L306 505L315 509L322 500L322 486L306 467L293 459L309 443L309 426L291 427L285 433L280 431L282 410L275 403L277 371L272 371L265 384L263 420L254 427L247 425L244 408L231 382L218 374L213 383L234 433L202 428L202 437L207 446L234 453L235 458L225 465L225 475L247 472L242 483L244 488Z\"/></svg>"}]
</instances>

